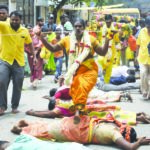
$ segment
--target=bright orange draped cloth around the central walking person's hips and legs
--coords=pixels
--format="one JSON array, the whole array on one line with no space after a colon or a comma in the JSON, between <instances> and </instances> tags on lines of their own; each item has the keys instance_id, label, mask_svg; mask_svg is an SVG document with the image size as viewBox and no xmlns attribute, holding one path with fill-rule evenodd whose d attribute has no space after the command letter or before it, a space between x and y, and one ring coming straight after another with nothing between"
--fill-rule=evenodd
<instances>
[{"instance_id":1,"label":"bright orange draped cloth around the central walking person's hips and legs","mask_svg":"<svg viewBox=\"0 0 150 150\"><path fill-rule=\"evenodd\" d=\"M86 65L80 65L70 87L69 94L72 97L74 105L86 104L89 92L95 86L97 81L97 64L94 62L94 60L89 60L89 62L86 60L86 62Z\"/></svg>"}]
</instances>

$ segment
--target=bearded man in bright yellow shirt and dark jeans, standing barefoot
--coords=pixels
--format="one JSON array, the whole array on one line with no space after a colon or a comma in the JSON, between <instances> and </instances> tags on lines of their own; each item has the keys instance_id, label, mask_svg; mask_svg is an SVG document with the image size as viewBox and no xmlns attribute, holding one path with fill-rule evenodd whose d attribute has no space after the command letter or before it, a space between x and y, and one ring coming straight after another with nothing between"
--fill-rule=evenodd
<instances>
[{"instance_id":1,"label":"bearded man in bright yellow shirt and dark jeans, standing barefoot","mask_svg":"<svg viewBox=\"0 0 150 150\"><path fill-rule=\"evenodd\" d=\"M2 45L0 53L0 115L7 109L7 89L10 79L13 82L11 99L12 113L18 113L21 90L24 79L24 44L29 45L33 54L32 40L28 30L22 27L22 15L13 11L10 23L0 21ZM33 56L34 57L34 56ZM34 62L36 59L34 57Z\"/></svg>"}]
</instances>

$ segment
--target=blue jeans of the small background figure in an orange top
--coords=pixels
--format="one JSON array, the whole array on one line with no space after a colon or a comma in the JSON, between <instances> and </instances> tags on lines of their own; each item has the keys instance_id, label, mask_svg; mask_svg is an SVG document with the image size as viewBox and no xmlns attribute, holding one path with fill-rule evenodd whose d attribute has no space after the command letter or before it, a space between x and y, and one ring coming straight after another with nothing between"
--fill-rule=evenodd
<instances>
[{"instance_id":1,"label":"blue jeans of the small background figure in an orange top","mask_svg":"<svg viewBox=\"0 0 150 150\"><path fill-rule=\"evenodd\" d=\"M56 64L56 72L55 72L55 78L58 79L58 77L62 73L62 64L63 64L63 57L54 58L55 64Z\"/></svg>"}]
</instances>

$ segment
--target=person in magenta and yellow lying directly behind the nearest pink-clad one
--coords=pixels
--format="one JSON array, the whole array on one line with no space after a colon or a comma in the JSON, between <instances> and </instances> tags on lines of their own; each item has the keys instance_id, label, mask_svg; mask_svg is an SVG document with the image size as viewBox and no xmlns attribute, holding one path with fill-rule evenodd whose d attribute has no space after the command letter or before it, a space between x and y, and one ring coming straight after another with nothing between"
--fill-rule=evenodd
<instances>
[{"instance_id":1,"label":"person in magenta and yellow lying directly behind the nearest pink-clad one","mask_svg":"<svg viewBox=\"0 0 150 150\"><path fill-rule=\"evenodd\" d=\"M27 115L42 117L42 118L61 118L74 116L75 111L70 110L70 106L73 104L71 100L63 101L59 100L59 103L55 105L55 101L51 99L48 108L45 111L29 110ZM121 110L119 106L108 105L99 100L93 100L86 105L88 116L97 116L98 118L107 118L112 115L114 118L124 124L136 125L137 123L150 123L150 116L144 112L135 113L130 111Z\"/></svg>"}]
</instances>

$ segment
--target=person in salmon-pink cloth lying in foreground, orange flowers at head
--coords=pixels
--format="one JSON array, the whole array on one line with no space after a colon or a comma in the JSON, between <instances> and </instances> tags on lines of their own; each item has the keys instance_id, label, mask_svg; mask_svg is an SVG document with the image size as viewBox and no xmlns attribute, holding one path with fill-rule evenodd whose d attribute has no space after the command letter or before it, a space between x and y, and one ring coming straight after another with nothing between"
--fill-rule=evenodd
<instances>
[{"instance_id":1,"label":"person in salmon-pink cloth lying in foreground, orange flowers at head","mask_svg":"<svg viewBox=\"0 0 150 150\"><path fill-rule=\"evenodd\" d=\"M43 121L29 123L22 120L11 132L60 142L105 145L115 143L126 150L136 150L141 145L150 144L150 139L137 138L136 131L132 127L115 121L112 116L107 120L82 116L78 124L74 124L74 117L56 120L51 124Z\"/></svg>"}]
</instances>

